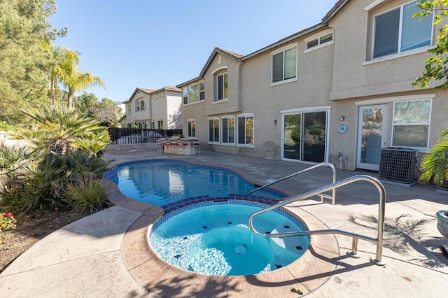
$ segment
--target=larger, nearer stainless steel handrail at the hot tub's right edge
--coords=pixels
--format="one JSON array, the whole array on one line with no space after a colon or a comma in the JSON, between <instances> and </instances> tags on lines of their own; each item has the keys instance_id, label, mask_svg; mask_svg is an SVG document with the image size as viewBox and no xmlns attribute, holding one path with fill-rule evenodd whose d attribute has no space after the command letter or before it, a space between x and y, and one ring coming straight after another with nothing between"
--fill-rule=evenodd
<instances>
[{"instance_id":1,"label":"larger, nearer stainless steel handrail at the hot tub's right edge","mask_svg":"<svg viewBox=\"0 0 448 298\"><path fill-rule=\"evenodd\" d=\"M334 190L337 187L341 187L343 185L347 185L356 181L365 180L377 187L377 190L379 192L379 211L378 211L378 234L377 238L372 238L370 236L364 236L361 234L356 234L352 232L346 232L340 229L324 229L324 230L315 230L315 231L302 231L302 232L288 232L288 233L279 233L279 234L263 234L258 232L255 227L253 227L253 218L261 213L265 213L267 211L271 211L275 208L279 208L281 206L285 206L287 204L293 203L294 201L300 201L303 199L308 199L309 197L312 197L316 194L319 194L321 192L326 192L328 190ZM309 234L342 234L346 236L352 237L351 242L351 251L349 251L347 254L351 257L359 257L358 256L358 239L364 239L366 241L370 241L373 243L377 243L377 253L375 259L370 259L374 264L377 264L379 266L384 266L386 263L381 260L381 257L383 255L383 236L384 236L384 208L386 206L386 190L384 190L384 186L377 180L376 178L373 178L371 176L367 175L356 175L349 178L346 178L344 180L340 180L337 183L332 183L320 188L317 188L316 190L312 190L310 192L306 192L304 194L300 194L299 196L292 197L290 199L287 199L286 201L281 201L278 204L269 206L267 208L263 208L259 211L256 211L251 214L249 217L249 227L251 228L252 232L255 234L265 236L265 237L288 237L288 236L302 236L302 235L309 235Z\"/></svg>"}]
</instances>

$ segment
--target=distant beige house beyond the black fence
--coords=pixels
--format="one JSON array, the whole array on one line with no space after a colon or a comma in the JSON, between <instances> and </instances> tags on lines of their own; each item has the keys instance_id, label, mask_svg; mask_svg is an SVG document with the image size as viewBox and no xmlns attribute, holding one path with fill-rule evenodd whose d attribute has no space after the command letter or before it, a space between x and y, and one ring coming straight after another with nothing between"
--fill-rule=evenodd
<instances>
[{"instance_id":1,"label":"distant beige house beyond the black fence","mask_svg":"<svg viewBox=\"0 0 448 298\"><path fill-rule=\"evenodd\" d=\"M143 129L181 129L181 89L137 88L125 104L125 127Z\"/></svg>"}]
</instances>

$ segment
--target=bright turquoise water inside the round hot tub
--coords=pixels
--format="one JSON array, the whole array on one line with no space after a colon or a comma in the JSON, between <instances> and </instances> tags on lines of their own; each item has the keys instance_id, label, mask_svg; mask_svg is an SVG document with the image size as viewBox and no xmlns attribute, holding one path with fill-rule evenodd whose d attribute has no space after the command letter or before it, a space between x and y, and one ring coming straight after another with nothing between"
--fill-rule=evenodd
<instances>
[{"instance_id":1,"label":"bright turquoise water inside the round hot tub","mask_svg":"<svg viewBox=\"0 0 448 298\"><path fill-rule=\"evenodd\" d=\"M150 243L166 262L201 274L239 276L279 269L307 250L309 236L280 239L253 234L248 217L263 207L237 201L189 206L156 222ZM306 229L279 210L258 215L253 225L272 234Z\"/></svg>"}]
</instances>

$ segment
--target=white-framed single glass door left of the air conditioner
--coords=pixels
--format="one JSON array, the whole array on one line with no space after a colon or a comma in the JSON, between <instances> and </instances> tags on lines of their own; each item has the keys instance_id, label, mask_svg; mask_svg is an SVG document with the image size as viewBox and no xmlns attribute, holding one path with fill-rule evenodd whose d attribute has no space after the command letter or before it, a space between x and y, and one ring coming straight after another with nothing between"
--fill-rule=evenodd
<instances>
[{"instance_id":1,"label":"white-framed single glass door left of the air conditioner","mask_svg":"<svg viewBox=\"0 0 448 298\"><path fill-rule=\"evenodd\" d=\"M356 168L378 171L381 148L386 146L387 105L360 106Z\"/></svg>"}]
</instances>

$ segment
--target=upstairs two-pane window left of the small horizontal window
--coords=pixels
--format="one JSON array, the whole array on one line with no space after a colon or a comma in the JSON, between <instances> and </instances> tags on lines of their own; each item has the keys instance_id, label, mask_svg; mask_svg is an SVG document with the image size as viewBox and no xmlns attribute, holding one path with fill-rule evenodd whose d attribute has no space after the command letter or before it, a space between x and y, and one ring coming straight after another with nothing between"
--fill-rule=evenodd
<instances>
[{"instance_id":1,"label":"upstairs two-pane window left of the small horizontal window","mask_svg":"<svg viewBox=\"0 0 448 298\"><path fill-rule=\"evenodd\" d=\"M297 46L272 55L272 83L297 78Z\"/></svg>"}]
</instances>

